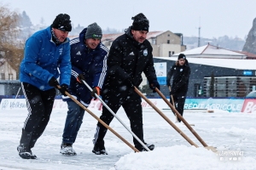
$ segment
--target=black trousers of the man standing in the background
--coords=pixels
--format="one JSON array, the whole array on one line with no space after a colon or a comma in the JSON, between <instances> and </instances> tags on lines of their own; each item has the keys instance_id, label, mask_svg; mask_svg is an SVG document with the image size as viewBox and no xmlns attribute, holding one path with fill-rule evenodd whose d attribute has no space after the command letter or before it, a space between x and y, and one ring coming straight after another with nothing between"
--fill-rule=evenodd
<instances>
[{"instance_id":1,"label":"black trousers of the man standing in the background","mask_svg":"<svg viewBox=\"0 0 256 170\"><path fill-rule=\"evenodd\" d=\"M173 97L173 100L174 100L174 104L172 103L172 97ZM178 111L178 113L181 116L183 116L185 100L186 100L186 95L176 95L176 94L173 94L170 97L170 103L175 107L175 109ZM174 112L173 112L173 114L175 115ZM178 118L178 116L177 116L177 121L181 122L181 120Z\"/></svg>"}]
</instances>

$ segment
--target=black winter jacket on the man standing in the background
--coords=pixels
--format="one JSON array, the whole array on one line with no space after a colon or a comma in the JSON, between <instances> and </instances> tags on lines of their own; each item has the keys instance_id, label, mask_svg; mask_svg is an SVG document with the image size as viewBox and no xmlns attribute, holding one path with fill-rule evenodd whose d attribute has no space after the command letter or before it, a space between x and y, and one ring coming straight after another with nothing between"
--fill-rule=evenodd
<instances>
[{"instance_id":1,"label":"black winter jacket on the man standing in the background","mask_svg":"<svg viewBox=\"0 0 256 170\"><path fill-rule=\"evenodd\" d=\"M170 81L172 76L172 93L177 95L187 94L190 76L190 67L187 59L184 65L178 65L177 63L172 65L172 68L167 75L167 86L171 86Z\"/></svg>"}]
</instances>

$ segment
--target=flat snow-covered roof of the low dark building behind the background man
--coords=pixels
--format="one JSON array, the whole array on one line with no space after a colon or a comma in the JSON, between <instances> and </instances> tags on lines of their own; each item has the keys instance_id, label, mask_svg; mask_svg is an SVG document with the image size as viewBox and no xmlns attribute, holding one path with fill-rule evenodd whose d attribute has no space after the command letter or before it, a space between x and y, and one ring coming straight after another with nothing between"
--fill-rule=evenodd
<instances>
[{"instance_id":1,"label":"flat snow-covered roof of the low dark building behind the background man","mask_svg":"<svg viewBox=\"0 0 256 170\"><path fill-rule=\"evenodd\" d=\"M177 60L174 57L154 57L155 59ZM224 68L238 69L238 70L256 70L256 59L203 59L203 58L189 58L189 63L198 65L211 65Z\"/></svg>"}]
</instances>

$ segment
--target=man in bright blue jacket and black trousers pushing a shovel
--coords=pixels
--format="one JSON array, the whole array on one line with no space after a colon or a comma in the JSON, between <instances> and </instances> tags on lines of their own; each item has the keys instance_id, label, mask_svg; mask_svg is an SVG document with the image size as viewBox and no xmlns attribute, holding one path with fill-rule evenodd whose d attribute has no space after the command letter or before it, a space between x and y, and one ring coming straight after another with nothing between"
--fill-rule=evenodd
<instances>
[{"instance_id":1,"label":"man in bright blue jacket and black trousers pushing a shovel","mask_svg":"<svg viewBox=\"0 0 256 170\"><path fill-rule=\"evenodd\" d=\"M31 149L49 122L55 88L61 84L61 94L68 89L71 63L67 35L71 30L69 15L58 14L51 26L26 40L24 59L20 64L20 82L28 115L17 147L19 156L24 159L37 158ZM58 77L60 83L56 80Z\"/></svg>"}]
</instances>

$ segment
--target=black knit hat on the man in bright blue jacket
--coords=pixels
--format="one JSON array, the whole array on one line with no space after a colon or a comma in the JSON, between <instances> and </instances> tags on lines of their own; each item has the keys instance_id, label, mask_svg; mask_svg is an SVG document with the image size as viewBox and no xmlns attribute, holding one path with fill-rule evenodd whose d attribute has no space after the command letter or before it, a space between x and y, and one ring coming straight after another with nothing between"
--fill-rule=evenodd
<instances>
[{"instance_id":1,"label":"black knit hat on the man in bright blue jacket","mask_svg":"<svg viewBox=\"0 0 256 170\"><path fill-rule=\"evenodd\" d=\"M71 31L70 16L68 14L58 14L51 26L61 31Z\"/></svg>"}]
</instances>

